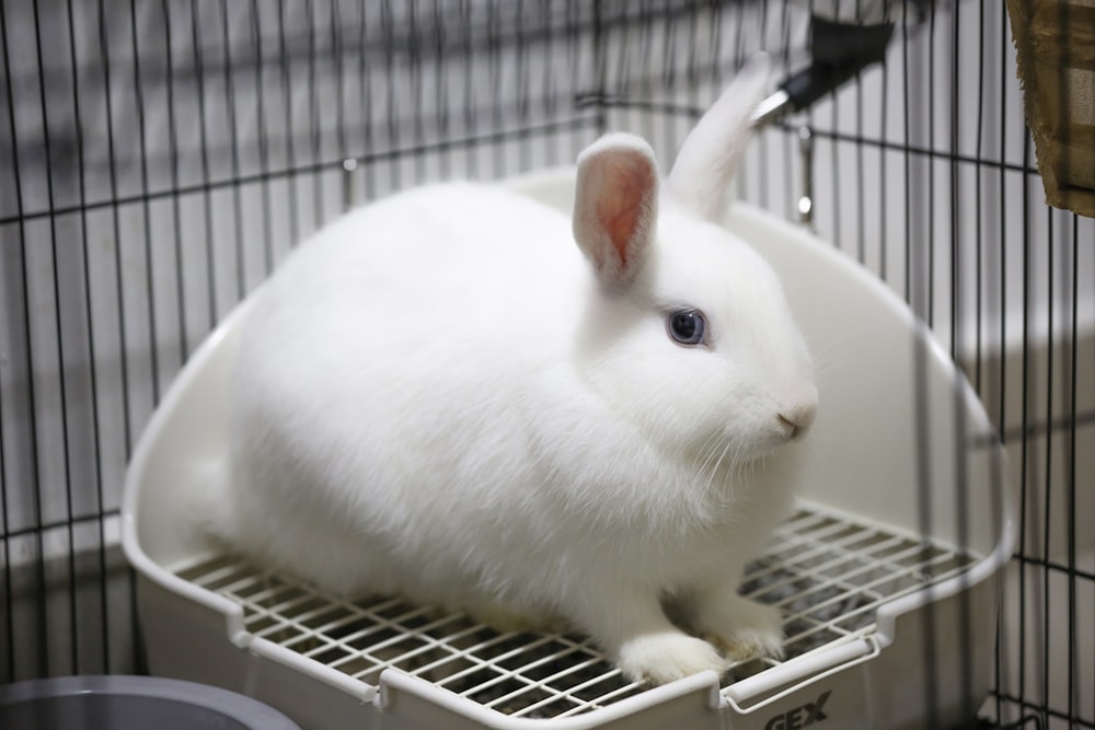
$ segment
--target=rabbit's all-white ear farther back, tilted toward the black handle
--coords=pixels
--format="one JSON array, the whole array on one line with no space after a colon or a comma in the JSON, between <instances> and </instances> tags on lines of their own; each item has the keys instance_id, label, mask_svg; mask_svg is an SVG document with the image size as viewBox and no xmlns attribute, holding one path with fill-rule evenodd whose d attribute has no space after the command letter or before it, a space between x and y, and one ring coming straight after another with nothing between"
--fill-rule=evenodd
<instances>
[{"instance_id":1,"label":"rabbit's all-white ear farther back, tilted toward the black handle","mask_svg":"<svg viewBox=\"0 0 1095 730\"><path fill-rule=\"evenodd\" d=\"M751 137L752 115L764 97L769 58L757 54L684 139L667 181L678 202L722 222L730 178Z\"/></svg>"}]
</instances>

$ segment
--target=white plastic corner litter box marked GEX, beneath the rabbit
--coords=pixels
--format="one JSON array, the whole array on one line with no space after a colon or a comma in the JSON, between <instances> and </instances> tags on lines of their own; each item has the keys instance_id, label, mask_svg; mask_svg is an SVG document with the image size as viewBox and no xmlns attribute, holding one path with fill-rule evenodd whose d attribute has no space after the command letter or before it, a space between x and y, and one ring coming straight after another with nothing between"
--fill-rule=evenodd
<instances>
[{"instance_id":1,"label":"white plastic corner litter box marked GEX, beneath the rabbit","mask_svg":"<svg viewBox=\"0 0 1095 730\"><path fill-rule=\"evenodd\" d=\"M573 178L509 185L569 211ZM818 362L808 483L742 587L783 610L782 660L645 688L580 636L498 634L391 596L346 602L218 554L180 496L226 449L245 300L180 373L127 476L123 544L151 671L247 694L307 730L969 720L990 686L1013 540L995 433L953 362L858 264L744 204L727 225L782 276Z\"/></svg>"}]
</instances>

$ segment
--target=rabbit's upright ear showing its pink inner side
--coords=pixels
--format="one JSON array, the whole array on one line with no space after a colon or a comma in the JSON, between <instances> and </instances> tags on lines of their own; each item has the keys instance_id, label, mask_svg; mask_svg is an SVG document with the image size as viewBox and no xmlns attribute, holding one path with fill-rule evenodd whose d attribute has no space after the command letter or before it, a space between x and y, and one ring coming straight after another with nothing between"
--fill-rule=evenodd
<instances>
[{"instance_id":1,"label":"rabbit's upright ear showing its pink inner side","mask_svg":"<svg viewBox=\"0 0 1095 730\"><path fill-rule=\"evenodd\" d=\"M574 239L610 289L632 282L654 239L658 184L654 151L634 135L606 135L578 157Z\"/></svg>"}]
</instances>

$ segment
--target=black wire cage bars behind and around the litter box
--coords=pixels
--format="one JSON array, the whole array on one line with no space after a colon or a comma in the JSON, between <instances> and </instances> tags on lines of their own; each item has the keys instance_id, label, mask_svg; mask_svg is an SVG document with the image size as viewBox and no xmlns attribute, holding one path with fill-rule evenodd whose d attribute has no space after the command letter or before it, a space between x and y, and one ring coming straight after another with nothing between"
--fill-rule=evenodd
<instances>
[{"instance_id":1,"label":"black wire cage bars behind and around the litter box","mask_svg":"<svg viewBox=\"0 0 1095 730\"><path fill-rule=\"evenodd\" d=\"M297 241L606 129L671 159L748 54L807 58L821 4L0 0L0 681L141 669L131 447ZM759 136L736 187L789 218L808 194L965 369L1018 482L982 712L1095 727L1095 227L1042 202L1003 3L898 24L880 65Z\"/></svg>"}]
</instances>

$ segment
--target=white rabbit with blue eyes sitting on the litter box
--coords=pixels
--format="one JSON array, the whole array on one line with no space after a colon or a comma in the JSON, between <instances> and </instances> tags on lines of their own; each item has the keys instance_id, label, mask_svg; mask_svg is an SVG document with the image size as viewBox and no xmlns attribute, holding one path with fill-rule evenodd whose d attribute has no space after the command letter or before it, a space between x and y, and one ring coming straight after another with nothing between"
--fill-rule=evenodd
<instances>
[{"instance_id":1,"label":"white rabbit with blue eyes sitting on the litter box","mask_svg":"<svg viewBox=\"0 0 1095 730\"><path fill-rule=\"evenodd\" d=\"M642 139L591 144L573 221L447 184L301 245L243 324L209 529L331 591L576 627L652 683L779 652L737 586L817 391L775 274L718 224L764 76L665 182Z\"/></svg>"}]
</instances>

